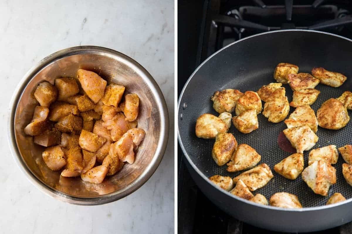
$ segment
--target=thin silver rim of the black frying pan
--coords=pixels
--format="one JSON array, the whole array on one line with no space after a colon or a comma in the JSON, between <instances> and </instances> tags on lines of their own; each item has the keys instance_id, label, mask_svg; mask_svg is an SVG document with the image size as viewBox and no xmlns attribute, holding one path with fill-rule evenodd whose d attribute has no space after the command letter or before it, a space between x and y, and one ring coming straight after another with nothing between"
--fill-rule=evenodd
<instances>
[{"instance_id":1,"label":"thin silver rim of the black frying pan","mask_svg":"<svg viewBox=\"0 0 352 234\"><path fill-rule=\"evenodd\" d=\"M300 31L300 32L311 32L311 33L321 33L321 34L327 34L330 36L336 36L339 37L341 39L345 39L347 41L352 42L351 39L348 39L344 36L340 36L340 35L336 35L333 33L327 33L327 32L320 32L320 31L315 31L315 30L308 30L308 29L283 29L283 30L276 30L276 31L270 31L270 32L264 32L264 33L258 33L255 35L251 35L248 36L246 38L240 39L238 41L234 41L231 44L219 49L218 51L214 52L212 55L210 55L206 60L204 60L195 70L194 72L189 76L188 80L186 81L185 85L182 88L182 91L180 93L180 96L178 97L178 101L177 101L177 114L180 113L180 105L181 105L181 99L183 96L183 93L185 91L185 89L188 86L188 83L190 82L191 78L194 76L194 74L208 61L210 60L213 56L215 56L216 54L220 53L222 50L226 49L227 47L230 47L240 41L249 39L249 38L253 38L256 36L260 36L263 34L269 34L269 33L280 33L280 32L294 32L294 31ZM178 118L178 116L177 116ZM344 205L347 203L350 203L352 201L352 198L346 199L345 201L342 202L338 202L338 203L334 203L334 204L330 204L330 205L323 205L323 206L313 206L313 207L304 207L304 208L281 208L281 207L275 207L275 206L270 206L270 205L262 205L259 203L255 203L255 202L251 202L249 200L240 198L238 196L235 196L229 192L227 192L224 189L221 189L219 186L216 186L214 183L210 182L209 179L207 178L207 176L205 176L199 169L198 167L193 163L193 161L190 159L186 149L183 146L183 142L181 140L181 136L180 136L180 128L178 127L178 121L177 121L177 139L178 139L178 143L180 144L180 147L182 149L182 152L184 154L184 156L186 157L188 163L190 164L191 167L193 167L193 169L197 172L197 174L199 174L205 181L207 181L207 183L211 186L213 186L215 189L219 190L220 192L224 193L225 195L231 196L233 199L239 200L241 202L247 203L247 205L251 205L251 206L256 206L259 208L266 208L266 209L271 209L271 210L279 210L279 211L284 211L284 212L305 212L305 211L318 211L318 210L322 210L322 209L326 209L326 208L333 208L333 207L337 207L340 205Z\"/></svg>"}]
</instances>

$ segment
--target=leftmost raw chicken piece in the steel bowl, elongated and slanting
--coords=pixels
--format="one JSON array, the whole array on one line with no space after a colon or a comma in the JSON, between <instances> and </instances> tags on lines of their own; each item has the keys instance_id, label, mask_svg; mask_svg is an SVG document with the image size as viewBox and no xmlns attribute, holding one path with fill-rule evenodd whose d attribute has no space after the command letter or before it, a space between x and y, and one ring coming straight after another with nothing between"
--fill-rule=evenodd
<instances>
[{"instance_id":1,"label":"leftmost raw chicken piece in the steel bowl, elongated and slanting","mask_svg":"<svg viewBox=\"0 0 352 234\"><path fill-rule=\"evenodd\" d=\"M36 106L32 121L24 128L24 133L31 136L43 133L49 126L49 122L47 121L48 114L48 108Z\"/></svg>"}]
</instances>

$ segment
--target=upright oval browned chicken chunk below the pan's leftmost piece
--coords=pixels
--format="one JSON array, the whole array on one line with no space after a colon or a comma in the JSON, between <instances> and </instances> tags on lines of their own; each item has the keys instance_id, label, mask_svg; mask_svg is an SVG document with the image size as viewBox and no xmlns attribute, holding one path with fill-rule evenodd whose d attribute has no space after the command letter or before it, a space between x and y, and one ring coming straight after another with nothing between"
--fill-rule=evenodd
<instances>
[{"instance_id":1,"label":"upright oval browned chicken chunk below the pan's leftmost piece","mask_svg":"<svg viewBox=\"0 0 352 234\"><path fill-rule=\"evenodd\" d=\"M212 157L218 166L230 161L237 148L237 141L231 133L218 133L213 146Z\"/></svg>"}]
</instances>

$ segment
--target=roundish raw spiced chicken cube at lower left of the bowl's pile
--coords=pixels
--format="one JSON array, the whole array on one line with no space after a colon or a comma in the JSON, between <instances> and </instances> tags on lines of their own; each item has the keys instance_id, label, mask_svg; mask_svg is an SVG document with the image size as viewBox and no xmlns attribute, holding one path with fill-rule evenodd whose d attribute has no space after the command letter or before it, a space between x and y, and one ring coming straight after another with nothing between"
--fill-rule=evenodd
<instances>
[{"instance_id":1,"label":"roundish raw spiced chicken cube at lower left of the bowl's pile","mask_svg":"<svg viewBox=\"0 0 352 234\"><path fill-rule=\"evenodd\" d=\"M46 166L53 171L58 171L66 165L66 156L60 146L46 148L42 157Z\"/></svg>"}]
</instances>

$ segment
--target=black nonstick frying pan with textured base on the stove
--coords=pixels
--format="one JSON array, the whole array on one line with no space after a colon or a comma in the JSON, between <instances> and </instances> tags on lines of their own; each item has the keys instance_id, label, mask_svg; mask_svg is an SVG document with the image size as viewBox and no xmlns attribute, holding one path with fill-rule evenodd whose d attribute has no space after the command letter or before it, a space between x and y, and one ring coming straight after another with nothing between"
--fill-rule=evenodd
<instances>
[{"instance_id":1,"label":"black nonstick frying pan with textured base on the stove","mask_svg":"<svg viewBox=\"0 0 352 234\"><path fill-rule=\"evenodd\" d=\"M352 41L337 35L306 31L283 30L257 34L221 49L203 62L191 75L178 100L178 140L186 164L193 179L202 192L218 207L235 218L251 225L281 232L312 232L342 225L352 220L352 187L342 176L343 159L333 165L337 171L337 183L323 197L314 194L299 176L288 180L275 173L274 165L291 153L282 151L277 144L278 134L286 128L284 122L268 122L262 114L258 115L259 129L243 134L233 126L233 133L239 143L252 146L262 155L260 163L271 168L274 178L261 193L269 200L276 192L288 192L298 196L302 209L282 209L259 205L238 198L213 185L207 178L219 174L231 176L226 165L219 167L211 157L214 140L197 138L195 123L203 113L218 115L212 108L210 97L217 90L239 89L242 92L257 91L261 86L276 82L273 73L279 62L297 65L299 72L310 73L313 67L324 67L347 76L347 81L339 88L319 84L321 91L318 100L311 106L316 112L321 103L329 98L337 98L344 91L352 91ZM290 87L284 85L289 101L292 100ZM294 108L291 107L290 114ZM234 114L234 113L233 113ZM352 112L349 111L352 117ZM352 144L352 121L340 130L318 128L319 141L314 148L326 145L337 147ZM305 167L308 165L308 152L304 153ZM325 206L327 199L340 192L345 202Z\"/></svg>"}]
</instances>

